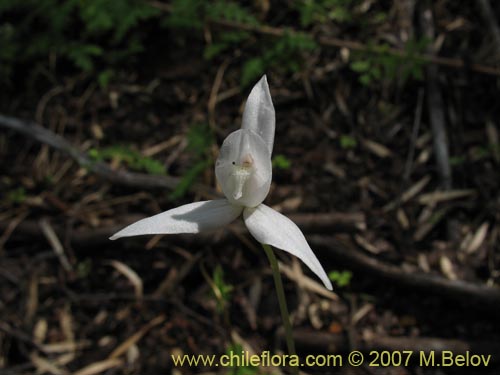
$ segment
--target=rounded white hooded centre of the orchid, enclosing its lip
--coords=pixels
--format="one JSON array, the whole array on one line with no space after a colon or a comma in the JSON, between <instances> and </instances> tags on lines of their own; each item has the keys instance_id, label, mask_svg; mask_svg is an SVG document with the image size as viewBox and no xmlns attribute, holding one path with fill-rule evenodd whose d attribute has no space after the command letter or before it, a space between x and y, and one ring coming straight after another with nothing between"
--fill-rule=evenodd
<instances>
[{"instance_id":1,"label":"rounded white hooded centre of the orchid, enclosing its lip","mask_svg":"<svg viewBox=\"0 0 500 375\"><path fill-rule=\"evenodd\" d=\"M229 202L256 207L269 193L271 155L262 138L240 129L227 136L215 163L215 176Z\"/></svg>"}]
</instances>

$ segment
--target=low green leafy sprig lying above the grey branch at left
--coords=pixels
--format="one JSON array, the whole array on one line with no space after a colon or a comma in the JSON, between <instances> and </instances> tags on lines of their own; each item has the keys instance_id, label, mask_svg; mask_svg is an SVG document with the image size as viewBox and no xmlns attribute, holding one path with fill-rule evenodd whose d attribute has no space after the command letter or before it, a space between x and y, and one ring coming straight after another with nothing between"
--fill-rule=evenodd
<instances>
[{"instance_id":1,"label":"low green leafy sprig lying above the grey branch at left","mask_svg":"<svg viewBox=\"0 0 500 375\"><path fill-rule=\"evenodd\" d=\"M130 169L154 175L165 174L165 167L159 161L142 156L128 146L110 146L103 149L91 149L89 156L93 161L118 160Z\"/></svg>"}]
</instances>

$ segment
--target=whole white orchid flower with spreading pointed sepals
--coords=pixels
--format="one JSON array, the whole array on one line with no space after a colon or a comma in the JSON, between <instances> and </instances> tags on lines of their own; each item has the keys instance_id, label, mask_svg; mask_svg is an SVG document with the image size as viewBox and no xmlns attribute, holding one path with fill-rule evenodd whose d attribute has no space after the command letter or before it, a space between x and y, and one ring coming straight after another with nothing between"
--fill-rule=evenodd
<instances>
[{"instance_id":1,"label":"whole white orchid flower with spreading pointed sepals","mask_svg":"<svg viewBox=\"0 0 500 375\"><path fill-rule=\"evenodd\" d=\"M332 290L318 258L300 229L262 202L271 186L274 106L266 76L253 87L240 130L228 135L215 163L215 176L226 199L195 202L140 220L111 237L199 233L221 228L243 213L248 230L262 244L300 258Z\"/></svg>"}]
</instances>

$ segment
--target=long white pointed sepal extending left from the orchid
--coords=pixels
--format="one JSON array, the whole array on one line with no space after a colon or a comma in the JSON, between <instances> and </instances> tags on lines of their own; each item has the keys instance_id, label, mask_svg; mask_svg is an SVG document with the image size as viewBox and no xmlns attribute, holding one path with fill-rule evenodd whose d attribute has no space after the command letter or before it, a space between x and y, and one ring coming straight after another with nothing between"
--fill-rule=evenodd
<instances>
[{"instance_id":1,"label":"long white pointed sepal extending left from the orchid","mask_svg":"<svg viewBox=\"0 0 500 375\"><path fill-rule=\"evenodd\" d=\"M226 199L189 203L130 224L110 239L143 234L199 233L229 224L241 211L241 207Z\"/></svg>"}]
</instances>

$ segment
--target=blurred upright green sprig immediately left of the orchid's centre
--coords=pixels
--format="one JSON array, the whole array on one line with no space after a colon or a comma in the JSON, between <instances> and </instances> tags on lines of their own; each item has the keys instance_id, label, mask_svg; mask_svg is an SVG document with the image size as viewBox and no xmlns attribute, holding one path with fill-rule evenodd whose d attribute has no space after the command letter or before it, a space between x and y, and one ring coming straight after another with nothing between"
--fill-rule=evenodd
<instances>
[{"instance_id":1,"label":"blurred upright green sprig immediately left of the orchid's centre","mask_svg":"<svg viewBox=\"0 0 500 375\"><path fill-rule=\"evenodd\" d=\"M194 124L187 132L187 150L193 156L193 164L184 172L179 184L170 193L170 199L182 198L203 171L213 164L210 148L214 144L214 136L206 124Z\"/></svg>"}]
</instances>

